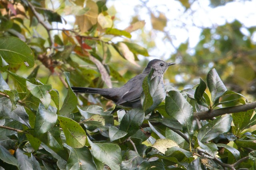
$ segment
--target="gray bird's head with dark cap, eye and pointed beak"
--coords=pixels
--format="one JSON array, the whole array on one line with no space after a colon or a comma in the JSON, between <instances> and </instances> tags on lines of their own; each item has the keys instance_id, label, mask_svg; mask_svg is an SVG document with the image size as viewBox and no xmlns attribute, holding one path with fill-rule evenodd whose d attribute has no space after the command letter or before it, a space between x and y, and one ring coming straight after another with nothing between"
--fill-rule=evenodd
<instances>
[{"instance_id":1,"label":"gray bird's head with dark cap, eye and pointed beak","mask_svg":"<svg viewBox=\"0 0 256 170\"><path fill-rule=\"evenodd\" d=\"M144 69L144 73L148 73L150 72L151 68L153 68L154 70L158 71L158 72L166 72L167 68L171 65L174 65L176 63L166 63L165 61L159 60L159 59L154 59L151 60L147 67Z\"/></svg>"}]
</instances>

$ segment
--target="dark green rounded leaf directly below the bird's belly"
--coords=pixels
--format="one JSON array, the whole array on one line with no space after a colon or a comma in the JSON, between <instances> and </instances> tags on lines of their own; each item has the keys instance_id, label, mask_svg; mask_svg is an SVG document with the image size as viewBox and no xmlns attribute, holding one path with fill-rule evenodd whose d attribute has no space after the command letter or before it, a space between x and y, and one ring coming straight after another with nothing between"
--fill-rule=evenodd
<instances>
[{"instance_id":1,"label":"dark green rounded leaf directly below the bird's belly","mask_svg":"<svg viewBox=\"0 0 256 170\"><path fill-rule=\"evenodd\" d=\"M133 135L144 120L144 111L141 109L131 109L129 110L120 123L120 130L127 132L127 136Z\"/></svg>"}]
</instances>

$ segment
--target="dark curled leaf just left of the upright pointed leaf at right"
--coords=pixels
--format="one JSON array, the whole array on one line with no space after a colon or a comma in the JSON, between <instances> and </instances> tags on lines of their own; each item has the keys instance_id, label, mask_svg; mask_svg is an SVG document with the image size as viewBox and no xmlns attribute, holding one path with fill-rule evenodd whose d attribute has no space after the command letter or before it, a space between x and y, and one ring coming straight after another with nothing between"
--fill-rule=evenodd
<instances>
[{"instance_id":1,"label":"dark curled leaf just left of the upright pointed leaf at right","mask_svg":"<svg viewBox=\"0 0 256 170\"><path fill-rule=\"evenodd\" d=\"M196 87L196 91L194 94L194 98L196 99L196 102L202 106L208 107L208 104L204 98L204 91L206 90L206 84L204 80L200 78L200 84ZM206 94L207 95L207 94Z\"/></svg>"}]
</instances>

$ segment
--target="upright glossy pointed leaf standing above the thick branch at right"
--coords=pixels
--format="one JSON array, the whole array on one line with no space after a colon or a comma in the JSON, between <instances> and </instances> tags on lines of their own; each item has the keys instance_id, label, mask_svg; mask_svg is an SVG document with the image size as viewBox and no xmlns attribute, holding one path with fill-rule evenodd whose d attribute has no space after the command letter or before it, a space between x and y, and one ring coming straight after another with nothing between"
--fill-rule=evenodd
<instances>
[{"instance_id":1,"label":"upright glossy pointed leaf standing above the thick branch at right","mask_svg":"<svg viewBox=\"0 0 256 170\"><path fill-rule=\"evenodd\" d=\"M223 96L223 94L227 91L227 88L225 87L215 69L212 69L208 72L207 85L212 96L212 102L218 100L218 98Z\"/></svg>"}]
</instances>

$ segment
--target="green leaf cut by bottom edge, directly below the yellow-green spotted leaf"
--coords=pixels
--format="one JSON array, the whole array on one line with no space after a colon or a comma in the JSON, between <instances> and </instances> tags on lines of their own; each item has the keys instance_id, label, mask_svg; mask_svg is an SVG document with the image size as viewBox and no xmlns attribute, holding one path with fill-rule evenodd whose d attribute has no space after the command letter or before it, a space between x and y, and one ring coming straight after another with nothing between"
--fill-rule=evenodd
<instances>
[{"instance_id":1,"label":"green leaf cut by bottom edge, directly below the yellow-green spotted leaf","mask_svg":"<svg viewBox=\"0 0 256 170\"><path fill-rule=\"evenodd\" d=\"M67 169L74 170L93 170L96 169L96 165L92 158L92 154L88 147L72 148L66 143L64 147L70 150Z\"/></svg>"}]
</instances>

